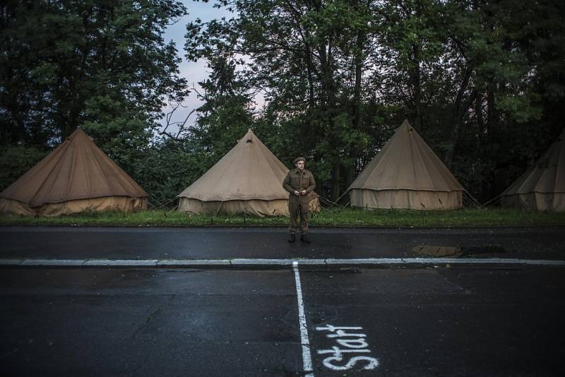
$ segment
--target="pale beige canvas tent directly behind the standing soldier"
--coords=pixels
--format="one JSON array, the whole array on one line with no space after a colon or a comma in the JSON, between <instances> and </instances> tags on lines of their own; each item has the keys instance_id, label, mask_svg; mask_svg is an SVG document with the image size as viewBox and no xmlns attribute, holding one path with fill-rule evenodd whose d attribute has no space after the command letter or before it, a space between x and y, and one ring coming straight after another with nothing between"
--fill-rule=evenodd
<instances>
[{"instance_id":1,"label":"pale beige canvas tent directly behind the standing soldier","mask_svg":"<svg viewBox=\"0 0 565 377\"><path fill-rule=\"evenodd\" d=\"M283 188L287 172L283 162L249 130L208 172L179 193L179 210L287 216L288 193Z\"/></svg>"}]
</instances>

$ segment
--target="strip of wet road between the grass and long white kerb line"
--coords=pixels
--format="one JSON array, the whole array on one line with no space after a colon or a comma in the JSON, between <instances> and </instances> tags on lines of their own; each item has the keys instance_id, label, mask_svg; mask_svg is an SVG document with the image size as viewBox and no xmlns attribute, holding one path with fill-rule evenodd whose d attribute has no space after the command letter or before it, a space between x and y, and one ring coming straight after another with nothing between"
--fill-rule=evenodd
<instances>
[{"instance_id":1,"label":"strip of wet road between the grass and long white kerb line","mask_svg":"<svg viewBox=\"0 0 565 377\"><path fill-rule=\"evenodd\" d=\"M311 239L289 244L280 227L0 227L0 258L405 258L439 250L565 260L565 227L314 228Z\"/></svg>"}]
</instances>

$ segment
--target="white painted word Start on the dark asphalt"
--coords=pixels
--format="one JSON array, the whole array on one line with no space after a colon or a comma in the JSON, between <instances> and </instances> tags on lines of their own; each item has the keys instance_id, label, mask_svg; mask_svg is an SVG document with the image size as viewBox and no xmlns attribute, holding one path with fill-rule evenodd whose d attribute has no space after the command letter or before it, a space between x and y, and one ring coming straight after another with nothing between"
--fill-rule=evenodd
<instances>
[{"instance_id":1,"label":"white painted word Start on the dark asphalt","mask_svg":"<svg viewBox=\"0 0 565 377\"><path fill-rule=\"evenodd\" d=\"M330 354L329 357L323 359L323 365L333 371L347 371L355 367L357 363L363 363L359 369L371 370L379 366L379 360L369 356L357 356L357 354L370 354L368 348L369 343L365 340L367 335L360 333L363 330L359 326L333 326L325 325L316 327L318 331L328 331L326 337L335 339L339 346L331 347L331 349L319 349L318 354ZM355 333L347 331L356 330Z\"/></svg>"}]
</instances>

